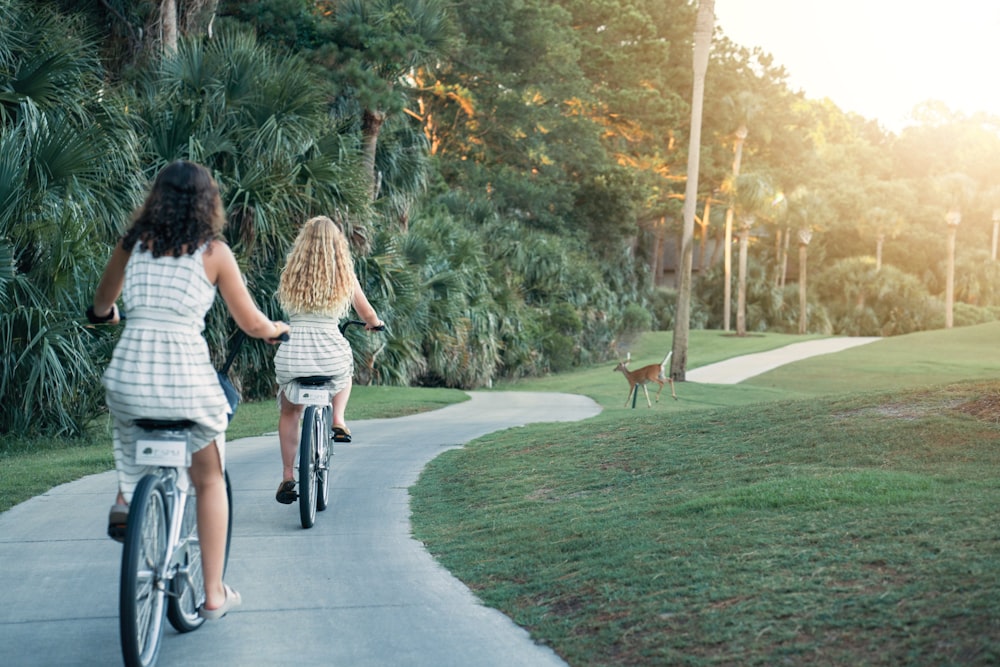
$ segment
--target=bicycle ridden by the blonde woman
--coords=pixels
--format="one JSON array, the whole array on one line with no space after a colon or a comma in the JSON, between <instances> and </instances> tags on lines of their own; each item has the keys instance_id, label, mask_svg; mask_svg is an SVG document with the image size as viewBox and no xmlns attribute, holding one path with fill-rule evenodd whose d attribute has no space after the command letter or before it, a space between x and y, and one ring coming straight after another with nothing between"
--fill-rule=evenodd
<instances>
[{"instance_id":1,"label":"bicycle ridden by the blonde woman","mask_svg":"<svg viewBox=\"0 0 1000 667\"><path fill-rule=\"evenodd\" d=\"M343 334L351 325L366 326L360 320L347 320L340 325ZM385 326L374 329L382 331ZM330 457L333 455L333 378L326 375L299 377L292 380L288 400L305 406L302 431L299 436L299 520L305 529L316 523L316 512L330 503Z\"/></svg>"}]
</instances>

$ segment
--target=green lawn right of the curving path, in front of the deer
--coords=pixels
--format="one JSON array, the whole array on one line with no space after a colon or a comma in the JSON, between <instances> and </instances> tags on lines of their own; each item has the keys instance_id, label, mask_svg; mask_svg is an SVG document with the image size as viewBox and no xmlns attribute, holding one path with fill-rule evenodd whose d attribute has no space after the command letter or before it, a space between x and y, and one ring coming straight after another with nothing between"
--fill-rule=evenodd
<instances>
[{"instance_id":1,"label":"green lawn right of the curving path, in front of the deer","mask_svg":"<svg viewBox=\"0 0 1000 667\"><path fill-rule=\"evenodd\" d=\"M618 395L435 459L415 536L574 667L998 664L998 336L879 341L652 410L597 369L518 383Z\"/></svg>"}]
</instances>

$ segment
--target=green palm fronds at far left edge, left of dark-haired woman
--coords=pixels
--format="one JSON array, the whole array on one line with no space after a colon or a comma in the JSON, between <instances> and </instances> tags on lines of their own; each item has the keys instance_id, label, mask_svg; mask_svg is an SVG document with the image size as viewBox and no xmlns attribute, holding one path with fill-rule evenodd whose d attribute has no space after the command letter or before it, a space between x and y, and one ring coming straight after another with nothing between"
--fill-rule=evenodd
<instances>
[{"instance_id":1,"label":"green palm fronds at far left edge, left of dark-haired woman","mask_svg":"<svg viewBox=\"0 0 1000 667\"><path fill-rule=\"evenodd\" d=\"M0 3L0 431L78 434L108 352L77 322L139 194L136 137L81 26Z\"/></svg>"}]
</instances>

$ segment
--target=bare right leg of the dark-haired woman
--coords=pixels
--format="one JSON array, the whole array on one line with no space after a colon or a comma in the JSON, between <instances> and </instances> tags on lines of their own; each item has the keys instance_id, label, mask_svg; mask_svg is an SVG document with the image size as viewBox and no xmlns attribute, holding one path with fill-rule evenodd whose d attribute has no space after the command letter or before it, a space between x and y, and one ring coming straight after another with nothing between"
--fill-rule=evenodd
<instances>
[{"instance_id":1,"label":"bare right leg of the dark-haired woman","mask_svg":"<svg viewBox=\"0 0 1000 667\"><path fill-rule=\"evenodd\" d=\"M226 601L222 571L226 561L229 501L215 442L191 456L190 473L198 498L198 541L205 576L205 608L216 609Z\"/></svg>"}]
</instances>

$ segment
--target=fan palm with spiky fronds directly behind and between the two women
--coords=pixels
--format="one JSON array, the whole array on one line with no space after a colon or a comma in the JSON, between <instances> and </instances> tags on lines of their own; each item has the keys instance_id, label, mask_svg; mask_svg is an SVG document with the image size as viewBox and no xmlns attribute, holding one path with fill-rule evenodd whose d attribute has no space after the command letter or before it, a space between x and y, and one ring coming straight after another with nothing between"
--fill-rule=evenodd
<instances>
[{"instance_id":1,"label":"fan palm with spiky fronds directly behind and between the two women","mask_svg":"<svg viewBox=\"0 0 1000 667\"><path fill-rule=\"evenodd\" d=\"M131 114L148 128L147 174L178 158L212 170L248 287L275 317L278 271L303 220L349 211L345 231L355 249L370 245L360 154L330 117L328 93L302 59L279 56L249 32L224 30L212 40L181 40L176 54L137 75L130 100ZM220 355L231 330L224 309L214 309L206 335ZM267 350L243 346L234 379L247 396L270 393L261 372L270 363Z\"/></svg>"}]
</instances>

